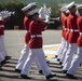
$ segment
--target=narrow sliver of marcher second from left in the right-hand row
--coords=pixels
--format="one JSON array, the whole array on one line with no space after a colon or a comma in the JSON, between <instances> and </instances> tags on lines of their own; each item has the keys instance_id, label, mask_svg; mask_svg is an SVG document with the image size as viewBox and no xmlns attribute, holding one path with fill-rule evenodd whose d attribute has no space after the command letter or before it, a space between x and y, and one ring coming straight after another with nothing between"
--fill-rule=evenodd
<instances>
[{"instance_id":1,"label":"narrow sliver of marcher second from left in the right-hand row","mask_svg":"<svg viewBox=\"0 0 82 81\"><path fill-rule=\"evenodd\" d=\"M64 17L64 21L63 21L63 26L64 26L64 32L63 32L63 35L64 35L64 50L63 50L63 53L62 53L62 57L60 57L60 64L63 64L64 63L64 59L65 59L65 57L66 57L66 52L67 52L67 50L68 50L68 42L67 42L67 40L65 39L65 37L66 37L66 33L67 33L67 31L68 31L68 28L67 28L67 18L68 18L68 16L69 16L69 10L67 10L66 9L66 11L65 11L65 17Z\"/></svg>"}]
</instances>

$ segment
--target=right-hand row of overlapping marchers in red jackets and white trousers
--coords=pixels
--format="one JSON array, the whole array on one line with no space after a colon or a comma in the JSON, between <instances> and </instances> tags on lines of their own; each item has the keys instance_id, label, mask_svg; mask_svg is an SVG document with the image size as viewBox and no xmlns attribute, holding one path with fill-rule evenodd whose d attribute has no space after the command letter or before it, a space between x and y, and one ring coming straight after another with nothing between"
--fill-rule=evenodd
<instances>
[{"instance_id":1,"label":"right-hand row of overlapping marchers in red jackets and white trousers","mask_svg":"<svg viewBox=\"0 0 82 81\"><path fill-rule=\"evenodd\" d=\"M78 79L74 75L82 64L82 4L76 5L72 1L60 11L62 44L56 57L67 78Z\"/></svg>"}]
</instances>

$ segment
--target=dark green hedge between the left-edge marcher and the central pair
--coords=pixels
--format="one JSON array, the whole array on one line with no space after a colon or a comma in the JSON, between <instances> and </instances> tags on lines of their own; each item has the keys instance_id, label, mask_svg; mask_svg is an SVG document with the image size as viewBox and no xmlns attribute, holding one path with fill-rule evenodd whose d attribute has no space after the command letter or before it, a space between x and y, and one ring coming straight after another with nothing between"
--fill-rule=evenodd
<instances>
[{"instance_id":1,"label":"dark green hedge between the left-edge marcher and the central pair","mask_svg":"<svg viewBox=\"0 0 82 81\"><path fill-rule=\"evenodd\" d=\"M14 26L19 26L20 29L24 28L23 18L24 13L22 12L22 8L24 8L24 3L17 0L12 0L10 2L0 3L1 10L15 11L15 15L8 17L8 22L5 24L6 29L13 29Z\"/></svg>"}]
</instances>

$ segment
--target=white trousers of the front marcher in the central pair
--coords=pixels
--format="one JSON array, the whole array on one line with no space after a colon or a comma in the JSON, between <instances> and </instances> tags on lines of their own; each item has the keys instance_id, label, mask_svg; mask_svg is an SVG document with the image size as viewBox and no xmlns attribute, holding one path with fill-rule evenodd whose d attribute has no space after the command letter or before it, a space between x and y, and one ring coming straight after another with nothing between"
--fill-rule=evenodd
<instances>
[{"instance_id":1,"label":"white trousers of the front marcher in the central pair","mask_svg":"<svg viewBox=\"0 0 82 81\"><path fill-rule=\"evenodd\" d=\"M46 64L46 59L45 59L44 52L43 52L42 49L30 49L29 50L28 58L27 58L20 73L28 76L31 64L36 58L38 58L44 75L45 76L50 75L52 71L50 70L50 68L49 68L49 66Z\"/></svg>"}]
</instances>

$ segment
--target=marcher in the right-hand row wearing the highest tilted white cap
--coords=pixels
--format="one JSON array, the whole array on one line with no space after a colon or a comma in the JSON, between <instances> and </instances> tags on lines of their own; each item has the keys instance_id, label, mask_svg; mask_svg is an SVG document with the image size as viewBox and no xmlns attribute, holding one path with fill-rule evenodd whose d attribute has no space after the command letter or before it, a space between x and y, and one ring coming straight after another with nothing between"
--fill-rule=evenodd
<instances>
[{"instance_id":1,"label":"marcher in the right-hand row wearing the highest tilted white cap","mask_svg":"<svg viewBox=\"0 0 82 81\"><path fill-rule=\"evenodd\" d=\"M69 26L69 36L68 36L68 42L69 42L69 46L68 46L68 51L66 53L66 57L64 60L64 67L63 67L63 71L66 73L67 70L70 67L71 60L73 58L73 56L77 53L78 50L78 45L77 45L77 40L79 37L79 30L78 30L78 26L77 26L77 9L76 9L76 4L74 1L69 3L67 5L67 9L70 11L70 14L67 18L67 25Z\"/></svg>"}]
</instances>

